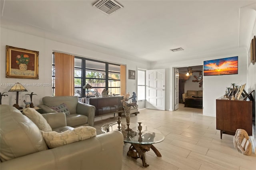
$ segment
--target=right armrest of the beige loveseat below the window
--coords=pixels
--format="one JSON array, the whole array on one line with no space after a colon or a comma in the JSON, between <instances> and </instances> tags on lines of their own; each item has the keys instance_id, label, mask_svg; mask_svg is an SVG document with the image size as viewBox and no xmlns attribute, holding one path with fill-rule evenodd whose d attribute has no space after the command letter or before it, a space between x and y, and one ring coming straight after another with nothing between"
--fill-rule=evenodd
<instances>
[{"instance_id":1,"label":"right armrest of the beige loveseat below the window","mask_svg":"<svg viewBox=\"0 0 256 170\"><path fill-rule=\"evenodd\" d=\"M77 103L76 113L88 117L88 124L92 127L94 125L95 106L86 103Z\"/></svg>"}]
</instances>

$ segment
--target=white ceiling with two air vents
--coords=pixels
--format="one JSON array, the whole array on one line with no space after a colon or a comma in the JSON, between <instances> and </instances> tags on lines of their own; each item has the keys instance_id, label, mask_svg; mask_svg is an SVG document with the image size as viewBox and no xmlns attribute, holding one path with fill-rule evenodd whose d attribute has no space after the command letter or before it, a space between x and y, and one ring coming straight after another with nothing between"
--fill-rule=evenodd
<instances>
[{"instance_id":1,"label":"white ceiling with two air vents","mask_svg":"<svg viewBox=\"0 0 256 170\"><path fill-rule=\"evenodd\" d=\"M1 0L1 27L120 57L182 61L246 48L256 19L255 0L117 0L124 8L110 16L95 2Z\"/></svg>"}]
</instances>

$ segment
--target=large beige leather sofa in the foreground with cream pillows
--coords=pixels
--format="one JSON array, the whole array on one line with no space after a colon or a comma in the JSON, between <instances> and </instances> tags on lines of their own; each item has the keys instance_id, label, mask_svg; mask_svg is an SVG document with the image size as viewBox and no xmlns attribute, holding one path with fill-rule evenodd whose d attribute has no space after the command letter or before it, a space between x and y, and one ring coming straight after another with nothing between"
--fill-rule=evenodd
<instances>
[{"instance_id":1,"label":"large beige leather sofa in the foreground with cream pillows","mask_svg":"<svg viewBox=\"0 0 256 170\"><path fill-rule=\"evenodd\" d=\"M68 128L64 113L42 115L52 129ZM0 135L1 170L122 169L123 135L119 131L48 149L28 117L12 106L0 105Z\"/></svg>"}]
</instances>

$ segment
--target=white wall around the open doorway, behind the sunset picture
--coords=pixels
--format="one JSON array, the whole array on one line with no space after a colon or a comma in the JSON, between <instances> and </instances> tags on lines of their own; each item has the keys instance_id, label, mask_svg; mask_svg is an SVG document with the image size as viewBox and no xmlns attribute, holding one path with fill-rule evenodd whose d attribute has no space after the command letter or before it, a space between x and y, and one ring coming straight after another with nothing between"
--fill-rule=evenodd
<instances>
[{"instance_id":1,"label":"white wall around the open doorway, behind the sunset picture","mask_svg":"<svg viewBox=\"0 0 256 170\"><path fill-rule=\"evenodd\" d=\"M231 83L244 84L247 79L247 55L246 49L235 49L232 51L223 51L222 55L205 55L205 58L181 61L175 63L156 63L151 64L151 69L168 68L170 77L166 78L166 83L170 90L166 90L166 110L174 110L174 67L188 67L194 65L203 65L204 61L210 59L220 59L225 57L238 56L238 74L236 75L216 75L203 77L203 115L216 117L216 99L224 95L226 87Z\"/></svg>"}]
</instances>

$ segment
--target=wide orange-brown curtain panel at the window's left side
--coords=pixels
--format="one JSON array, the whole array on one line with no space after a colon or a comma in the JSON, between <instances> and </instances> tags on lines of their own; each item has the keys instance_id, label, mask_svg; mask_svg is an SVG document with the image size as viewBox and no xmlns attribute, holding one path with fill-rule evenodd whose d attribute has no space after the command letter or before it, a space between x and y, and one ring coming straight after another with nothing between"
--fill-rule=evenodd
<instances>
[{"instance_id":1,"label":"wide orange-brown curtain panel at the window's left side","mask_svg":"<svg viewBox=\"0 0 256 170\"><path fill-rule=\"evenodd\" d=\"M55 96L74 96L75 56L54 53L55 57Z\"/></svg>"}]
</instances>

